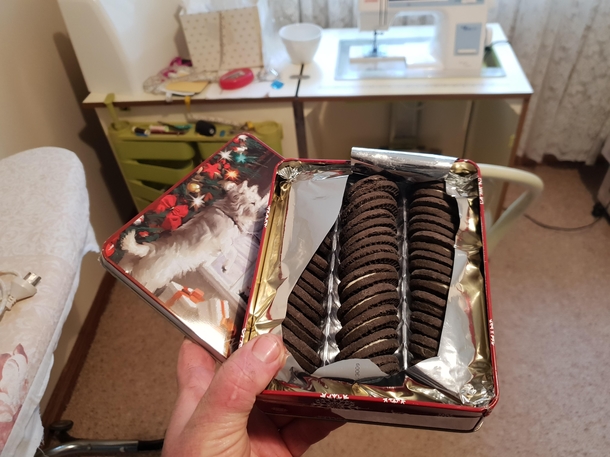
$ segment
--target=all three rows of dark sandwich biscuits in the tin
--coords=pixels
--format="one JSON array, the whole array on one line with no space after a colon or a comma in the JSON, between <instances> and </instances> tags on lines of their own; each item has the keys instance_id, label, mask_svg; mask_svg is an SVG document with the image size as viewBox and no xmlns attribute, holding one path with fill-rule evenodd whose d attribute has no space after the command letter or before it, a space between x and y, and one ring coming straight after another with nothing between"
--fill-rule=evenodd
<instances>
[{"instance_id":1,"label":"all three rows of dark sandwich biscuits in the tin","mask_svg":"<svg viewBox=\"0 0 610 457\"><path fill-rule=\"evenodd\" d=\"M403 241L397 222L399 193L394 182L380 175L356 181L345 194L339 225L341 328L335 335L335 361L370 359L388 374L401 368L396 356ZM410 363L416 364L438 352L459 215L442 182L418 185L407 200L408 349ZM286 347L308 373L322 365L331 251L329 234L296 283L282 327Z\"/></svg>"}]
</instances>

